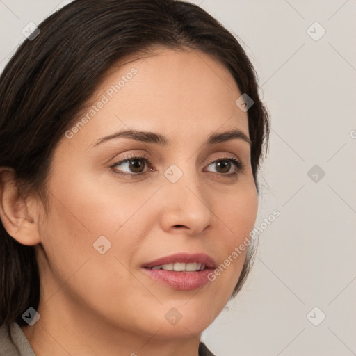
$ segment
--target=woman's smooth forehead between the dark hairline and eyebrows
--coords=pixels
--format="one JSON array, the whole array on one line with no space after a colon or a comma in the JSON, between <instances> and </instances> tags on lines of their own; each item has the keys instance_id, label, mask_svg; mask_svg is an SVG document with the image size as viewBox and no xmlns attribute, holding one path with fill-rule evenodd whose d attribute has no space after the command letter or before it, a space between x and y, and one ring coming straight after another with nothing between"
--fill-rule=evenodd
<instances>
[{"instance_id":1,"label":"woman's smooth forehead between the dark hairline and eyebrows","mask_svg":"<svg viewBox=\"0 0 356 356\"><path fill-rule=\"evenodd\" d=\"M111 67L75 138L90 143L118 129L159 131L172 138L208 136L236 127L248 136L241 92L227 68L201 51L160 49Z\"/></svg>"}]
</instances>

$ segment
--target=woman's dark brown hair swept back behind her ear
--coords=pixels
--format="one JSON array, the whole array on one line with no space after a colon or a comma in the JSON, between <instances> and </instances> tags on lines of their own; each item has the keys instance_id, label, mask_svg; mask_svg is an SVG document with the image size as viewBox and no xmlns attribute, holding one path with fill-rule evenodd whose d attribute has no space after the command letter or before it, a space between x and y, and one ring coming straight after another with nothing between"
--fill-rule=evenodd
<instances>
[{"instance_id":1,"label":"woman's dark brown hair swept back behind her ear","mask_svg":"<svg viewBox=\"0 0 356 356\"><path fill-rule=\"evenodd\" d=\"M54 149L86 108L100 81L118 60L154 46L198 49L223 63L248 110L251 165L257 172L267 151L269 114L257 74L245 51L219 22L192 3L175 0L75 0L44 20L40 34L24 40L0 77L0 167L15 170L20 191L45 186ZM237 99L237 98L236 98ZM232 297L251 266L248 254ZM0 326L26 325L22 314L38 308L40 277L34 246L15 241L0 224Z\"/></svg>"}]
</instances>

